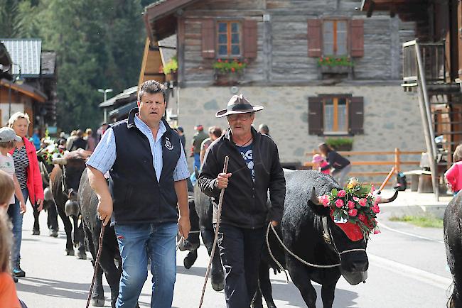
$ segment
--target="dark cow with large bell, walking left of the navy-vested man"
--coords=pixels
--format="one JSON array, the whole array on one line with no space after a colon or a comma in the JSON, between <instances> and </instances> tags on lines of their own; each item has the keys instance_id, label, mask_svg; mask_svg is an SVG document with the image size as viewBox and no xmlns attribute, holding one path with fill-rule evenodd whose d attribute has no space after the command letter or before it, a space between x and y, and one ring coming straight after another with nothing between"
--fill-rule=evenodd
<instances>
[{"instance_id":1,"label":"dark cow with large bell, walking left of the navy-vested man","mask_svg":"<svg viewBox=\"0 0 462 308\"><path fill-rule=\"evenodd\" d=\"M78 248L77 257L86 259L85 243L82 224L78 224L80 210L77 204L77 189L80 177L85 170L85 161L90 156L90 152L76 150L67 153L63 158L55 158L56 164L51 172L51 192L55 200L58 214L63 219L64 230L66 233L66 253L74 255L74 246ZM72 217L74 224L74 238L72 242L72 224L69 216Z\"/></svg>"}]
</instances>

